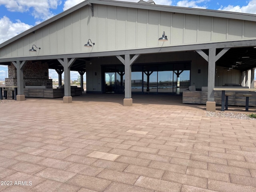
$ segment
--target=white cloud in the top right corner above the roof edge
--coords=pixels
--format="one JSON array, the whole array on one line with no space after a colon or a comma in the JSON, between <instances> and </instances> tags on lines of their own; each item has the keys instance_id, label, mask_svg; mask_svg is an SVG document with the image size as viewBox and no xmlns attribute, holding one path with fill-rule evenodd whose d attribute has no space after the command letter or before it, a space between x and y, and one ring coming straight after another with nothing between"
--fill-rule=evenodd
<instances>
[{"instance_id":1,"label":"white cloud in the top right corner above the roof edge","mask_svg":"<svg viewBox=\"0 0 256 192\"><path fill-rule=\"evenodd\" d=\"M256 0L250 0L248 5L241 7L239 5L228 5L226 7L221 6L219 10L256 14Z\"/></svg>"}]
</instances>

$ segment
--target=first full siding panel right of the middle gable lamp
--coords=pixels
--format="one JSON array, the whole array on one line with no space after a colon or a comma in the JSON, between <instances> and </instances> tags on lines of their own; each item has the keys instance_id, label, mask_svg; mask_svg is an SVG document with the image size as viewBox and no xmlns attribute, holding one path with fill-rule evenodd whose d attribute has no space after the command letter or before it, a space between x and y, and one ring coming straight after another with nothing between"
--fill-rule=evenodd
<instances>
[{"instance_id":1,"label":"first full siding panel right of the middle gable lamp","mask_svg":"<svg viewBox=\"0 0 256 192\"><path fill-rule=\"evenodd\" d=\"M98 6L98 50L106 50L107 32L106 32L106 16L107 6Z\"/></svg>"}]
</instances>

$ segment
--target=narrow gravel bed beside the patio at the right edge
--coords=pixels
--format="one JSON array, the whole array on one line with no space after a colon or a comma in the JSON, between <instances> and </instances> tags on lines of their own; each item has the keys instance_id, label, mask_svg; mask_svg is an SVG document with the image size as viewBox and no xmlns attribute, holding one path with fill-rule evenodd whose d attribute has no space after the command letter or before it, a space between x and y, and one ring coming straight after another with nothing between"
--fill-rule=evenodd
<instances>
[{"instance_id":1,"label":"narrow gravel bed beside the patio at the right edge","mask_svg":"<svg viewBox=\"0 0 256 192\"><path fill-rule=\"evenodd\" d=\"M224 117L224 118L233 118L233 119L256 120L256 118L250 118L248 116L248 114L232 113L232 112L210 112L210 111L206 111L206 116L208 116L208 117Z\"/></svg>"}]
</instances>

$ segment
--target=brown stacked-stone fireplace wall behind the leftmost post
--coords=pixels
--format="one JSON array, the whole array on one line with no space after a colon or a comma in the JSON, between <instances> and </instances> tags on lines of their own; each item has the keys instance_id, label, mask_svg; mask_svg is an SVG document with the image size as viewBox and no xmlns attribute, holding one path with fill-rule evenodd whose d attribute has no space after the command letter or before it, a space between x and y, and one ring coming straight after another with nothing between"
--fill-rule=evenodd
<instances>
[{"instance_id":1,"label":"brown stacked-stone fireplace wall behind the leftmost post","mask_svg":"<svg viewBox=\"0 0 256 192\"><path fill-rule=\"evenodd\" d=\"M49 79L48 70L48 63L28 61L23 67L24 88L26 85L52 88L52 79ZM8 78L5 79L5 82L6 86L17 86L17 70L12 63L8 66Z\"/></svg>"}]
</instances>

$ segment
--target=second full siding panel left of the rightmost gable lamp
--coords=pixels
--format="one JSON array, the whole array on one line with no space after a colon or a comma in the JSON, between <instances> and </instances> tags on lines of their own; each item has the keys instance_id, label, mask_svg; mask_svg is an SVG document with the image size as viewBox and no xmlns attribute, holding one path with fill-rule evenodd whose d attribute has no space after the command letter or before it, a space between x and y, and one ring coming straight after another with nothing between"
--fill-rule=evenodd
<instances>
[{"instance_id":1,"label":"second full siding panel left of the rightmost gable lamp","mask_svg":"<svg viewBox=\"0 0 256 192\"><path fill-rule=\"evenodd\" d=\"M148 34L148 11L138 9L138 48L146 47Z\"/></svg>"}]
</instances>

